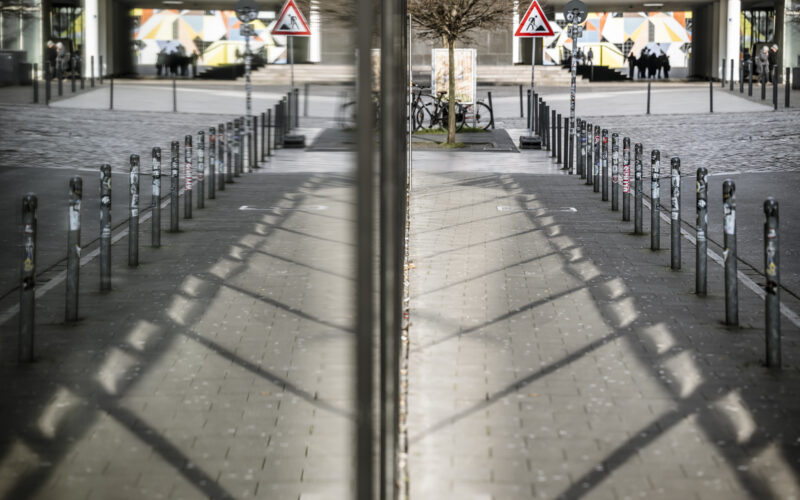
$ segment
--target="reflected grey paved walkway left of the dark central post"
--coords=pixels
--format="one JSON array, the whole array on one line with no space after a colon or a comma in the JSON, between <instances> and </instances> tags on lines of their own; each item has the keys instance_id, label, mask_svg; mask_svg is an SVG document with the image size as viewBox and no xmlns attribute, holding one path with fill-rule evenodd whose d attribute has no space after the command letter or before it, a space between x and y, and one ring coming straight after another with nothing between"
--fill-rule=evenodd
<instances>
[{"instance_id":1,"label":"reflected grey paved walkway left of the dark central post","mask_svg":"<svg viewBox=\"0 0 800 500\"><path fill-rule=\"evenodd\" d=\"M45 294L36 363L0 326L0 498L351 495L351 180L302 154L236 179L160 249L143 224L138 268L120 240L112 292L84 266L77 324L61 287Z\"/></svg>"}]
</instances>

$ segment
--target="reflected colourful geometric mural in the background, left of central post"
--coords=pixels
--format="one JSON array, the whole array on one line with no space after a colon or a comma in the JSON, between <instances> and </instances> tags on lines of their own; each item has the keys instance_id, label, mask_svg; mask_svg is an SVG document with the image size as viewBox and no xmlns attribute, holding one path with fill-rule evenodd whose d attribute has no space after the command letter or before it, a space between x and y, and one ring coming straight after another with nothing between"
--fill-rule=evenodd
<instances>
[{"instance_id":1,"label":"reflected colourful geometric mural in the background, left of central post","mask_svg":"<svg viewBox=\"0 0 800 500\"><path fill-rule=\"evenodd\" d=\"M274 15L274 14L273 14ZM204 66L241 62L242 23L230 10L133 9L133 40L138 64L155 64L158 54L198 54ZM257 19L250 48L270 63L286 62L286 37L270 34L274 19Z\"/></svg>"}]
</instances>

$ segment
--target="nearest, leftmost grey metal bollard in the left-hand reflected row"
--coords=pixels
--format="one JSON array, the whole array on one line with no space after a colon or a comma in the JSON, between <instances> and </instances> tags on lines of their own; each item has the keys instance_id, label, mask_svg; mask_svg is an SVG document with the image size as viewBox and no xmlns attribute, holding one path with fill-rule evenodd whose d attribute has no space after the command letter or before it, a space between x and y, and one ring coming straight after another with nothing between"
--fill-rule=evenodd
<instances>
[{"instance_id":1,"label":"nearest, leftmost grey metal bollard in the left-hand reflected row","mask_svg":"<svg viewBox=\"0 0 800 500\"><path fill-rule=\"evenodd\" d=\"M22 197L22 269L19 294L20 362L33 361L33 338L36 312L36 232L38 200L28 193Z\"/></svg>"}]
</instances>

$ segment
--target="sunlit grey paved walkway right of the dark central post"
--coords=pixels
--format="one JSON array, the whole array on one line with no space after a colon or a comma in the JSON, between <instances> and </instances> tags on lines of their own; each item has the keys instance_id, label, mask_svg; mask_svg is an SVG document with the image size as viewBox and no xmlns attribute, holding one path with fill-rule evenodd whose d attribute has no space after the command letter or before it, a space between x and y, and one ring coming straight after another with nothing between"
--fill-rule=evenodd
<instances>
[{"instance_id":1,"label":"sunlit grey paved walkway right of the dark central post","mask_svg":"<svg viewBox=\"0 0 800 500\"><path fill-rule=\"evenodd\" d=\"M800 497L800 330L773 375L755 294L723 326L720 267L695 297L693 247L670 271L585 191L543 152L415 154L411 498Z\"/></svg>"}]
</instances>

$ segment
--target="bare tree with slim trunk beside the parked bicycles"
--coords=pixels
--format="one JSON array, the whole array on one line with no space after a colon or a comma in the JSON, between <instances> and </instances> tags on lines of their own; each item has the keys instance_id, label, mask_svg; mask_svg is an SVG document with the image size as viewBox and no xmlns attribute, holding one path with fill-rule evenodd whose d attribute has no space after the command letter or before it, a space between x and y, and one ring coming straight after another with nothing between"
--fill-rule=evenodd
<instances>
[{"instance_id":1,"label":"bare tree with slim trunk beside the parked bicycles","mask_svg":"<svg viewBox=\"0 0 800 500\"><path fill-rule=\"evenodd\" d=\"M511 12L507 0L408 0L408 13L426 38L442 40L448 52L447 143L456 142L455 56L457 41L465 42L476 29L493 29Z\"/></svg>"}]
</instances>

